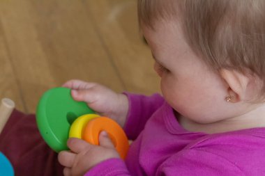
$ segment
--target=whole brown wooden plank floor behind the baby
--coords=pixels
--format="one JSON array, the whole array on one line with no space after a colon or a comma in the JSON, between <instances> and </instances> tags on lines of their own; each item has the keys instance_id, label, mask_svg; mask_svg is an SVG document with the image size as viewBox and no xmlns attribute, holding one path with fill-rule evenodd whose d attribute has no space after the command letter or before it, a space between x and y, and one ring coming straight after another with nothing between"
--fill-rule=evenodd
<instances>
[{"instance_id":1,"label":"whole brown wooden plank floor behind the baby","mask_svg":"<svg viewBox=\"0 0 265 176\"><path fill-rule=\"evenodd\" d=\"M69 79L118 92L159 91L137 0L0 1L0 70L0 98L25 113Z\"/></svg>"}]
</instances>

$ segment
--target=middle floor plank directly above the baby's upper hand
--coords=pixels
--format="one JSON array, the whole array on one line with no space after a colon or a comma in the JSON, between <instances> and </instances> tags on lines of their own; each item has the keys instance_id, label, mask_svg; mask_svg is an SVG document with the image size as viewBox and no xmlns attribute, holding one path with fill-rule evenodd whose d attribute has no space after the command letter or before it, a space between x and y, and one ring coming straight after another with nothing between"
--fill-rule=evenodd
<instances>
[{"instance_id":1,"label":"middle floor plank directly above the baby's upper hand","mask_svg":"<svg viewBox=\"0 0 265 176\"><path fill-rule=\"evenodd\" d=\"M123 89L82 1L32 2L40 17L39 37L55 79L79 78L103 83L114 90Z\"/></svg>"}]
</instances>

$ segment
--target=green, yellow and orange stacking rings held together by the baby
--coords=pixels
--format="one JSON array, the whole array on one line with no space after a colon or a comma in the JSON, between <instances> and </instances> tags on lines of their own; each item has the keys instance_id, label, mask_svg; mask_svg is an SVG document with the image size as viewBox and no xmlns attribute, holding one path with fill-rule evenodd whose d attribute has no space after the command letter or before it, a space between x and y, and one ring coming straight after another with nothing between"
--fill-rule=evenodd
<instances>
[{"instance_id":1,"label":"green, yellow and orange stacking rings held together by the baby","mask_svg":"<svg viewBox=\"0 0 265 176\"><path fill-rule=\"evenodd\" d=\"M68 138L81 138L98 145L100 132L107 131L121 158L125 159L129 143L123 129L114 120L96 115L85 102L75 101L70 92L69 88L53 88L40 98L37 125L47 145L55 152L69 150Z\"/></svg>"}]
</instances>

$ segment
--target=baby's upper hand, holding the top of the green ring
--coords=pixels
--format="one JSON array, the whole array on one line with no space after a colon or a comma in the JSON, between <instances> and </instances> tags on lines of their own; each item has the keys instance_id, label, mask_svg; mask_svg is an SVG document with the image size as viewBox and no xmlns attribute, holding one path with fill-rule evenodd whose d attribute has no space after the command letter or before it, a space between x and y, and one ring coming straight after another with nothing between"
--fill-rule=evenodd
<instances>
[{"instance_id":1,"label":"baby's upper hand, holding the top of the green ring","mask_svg":"<svg viewBox=\"0 0 265 176\"><path fill-rule=\"evenodd\" d=\"M88 106L100 115L112 118L123 127L128 113L128 98L121 93L98 83L87 83L70 80L63 87L72 89L72 97L76 101L86 102Z\"/></svg>"}]
</instances>

